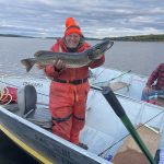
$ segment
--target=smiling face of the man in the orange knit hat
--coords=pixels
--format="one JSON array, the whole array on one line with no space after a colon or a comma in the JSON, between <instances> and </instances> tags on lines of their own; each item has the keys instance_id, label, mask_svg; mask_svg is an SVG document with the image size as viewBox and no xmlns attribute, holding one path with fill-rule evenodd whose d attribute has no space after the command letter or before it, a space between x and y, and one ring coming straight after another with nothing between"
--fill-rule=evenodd
<instances>
[{"instance_id":1,"label":"smiling face of the man in the orange knit hat","mask_svg":"<svg viewBox=\"0 0 164 164\"><path fill-rule=\"evenodd\" d=\"M77 33L72 33L72 34L66 36L67 46L69 48L77 48L77 46L80 43L80 38L81 38L81 36Z\"/></svg>"}]
</instances>

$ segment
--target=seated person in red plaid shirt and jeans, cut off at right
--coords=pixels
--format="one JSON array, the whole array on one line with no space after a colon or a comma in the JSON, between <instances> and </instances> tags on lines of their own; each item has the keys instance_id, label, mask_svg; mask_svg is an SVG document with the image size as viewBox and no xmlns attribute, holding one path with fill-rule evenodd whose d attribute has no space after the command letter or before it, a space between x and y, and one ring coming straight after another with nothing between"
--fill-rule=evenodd
<instances>
[{"instance_id":1,"label":"seated person in red plaid shirt and jeans, cut off at right","mask_svg":"<svg viewBox=\"0 0 164 164\"><path fill-rule=\"evenodd\" d=\"M142 92L142 101L149 102L149 96L164 95L164 63L152 72Z\"/></svg>"}]
</instances>

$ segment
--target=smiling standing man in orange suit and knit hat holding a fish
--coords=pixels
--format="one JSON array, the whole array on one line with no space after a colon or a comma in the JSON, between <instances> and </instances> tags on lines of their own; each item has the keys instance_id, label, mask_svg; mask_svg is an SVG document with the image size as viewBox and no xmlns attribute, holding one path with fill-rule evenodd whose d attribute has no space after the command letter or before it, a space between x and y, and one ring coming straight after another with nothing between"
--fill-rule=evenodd
<instances>
[{"instance_id":1,"label":"smiling standing man in orange suit and knit hat holding a fish","mask_svg":"<svg viewBox=\"0 0 164 164\"><path fill-rule=\"evenodd\" d=\"M81 52L90 47L84 42L80 26L73 17L66 20L66 32L61 39L51 47L55 52ZM51 77L49 108L52 116L52 132L77 145L79 134L85 122L85 105L90 90L89 67L96 68L104 63L105 57L82 68L67 68L62 60L47 66L45 73Z\"/></svg>"}]
</instances>

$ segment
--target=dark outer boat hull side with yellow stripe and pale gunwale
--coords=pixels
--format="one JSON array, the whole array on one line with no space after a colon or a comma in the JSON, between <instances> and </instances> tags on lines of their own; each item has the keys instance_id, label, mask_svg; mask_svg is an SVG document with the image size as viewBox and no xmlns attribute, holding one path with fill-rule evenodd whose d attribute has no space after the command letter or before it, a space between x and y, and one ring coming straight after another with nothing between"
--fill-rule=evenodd
<instances>
[{"instance_id":1,"label":"dark outer boat hull side with yellow stripe and pale gunwale","mask_svg":"<svg viewBox=\"0 0 164 164\"><path fill-rule=\"evenodd\" d=\"M102 159L0 108L0 129L42 163L99 164ZM103 160L104 161L104 160Z\"/></svg>"}]
</instances>

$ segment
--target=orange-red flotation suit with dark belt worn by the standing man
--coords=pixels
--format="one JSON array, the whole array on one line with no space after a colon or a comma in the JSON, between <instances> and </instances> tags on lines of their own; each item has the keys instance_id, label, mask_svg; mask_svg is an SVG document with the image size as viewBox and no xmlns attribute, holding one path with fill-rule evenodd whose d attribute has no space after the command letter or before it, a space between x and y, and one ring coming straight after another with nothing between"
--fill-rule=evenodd
<instances>
[{"instance_id":1,"label":"orange-red flotation suit with dark belt worn by the standing man","mask_svg":"<svg viewBox=\"0 0 164 164\"><path fill-rule=\"evenodd\" d=\"M89 48L83 43L79 52ZM51 48L52 51L67 51L63 39ZM58 72L52 66L45 68L47 77L54 80L50 84L49 108L52 116L52 132L74 144L79 144L79 134L85 122L85 105L90 85L89 67L95 68L104 63L104 56L82 68L68 68Z\"/></svg>"}]
</instances>

